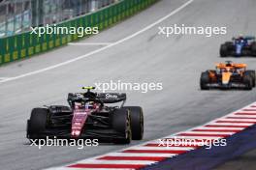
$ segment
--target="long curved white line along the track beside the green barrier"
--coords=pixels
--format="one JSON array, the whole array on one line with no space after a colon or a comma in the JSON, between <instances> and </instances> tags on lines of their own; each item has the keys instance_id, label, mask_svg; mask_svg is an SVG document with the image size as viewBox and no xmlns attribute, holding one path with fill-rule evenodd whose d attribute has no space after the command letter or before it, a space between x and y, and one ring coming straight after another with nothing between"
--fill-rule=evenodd
<instances>
[{"instance_id":1,"label":"long curved white line along the track beside the green barrier","mask_svg":"<svg viewBox=\"0 0 256 170\"><path fill-rule=\"evenodd\" d=\"M126 42L126 41L129 41L141 34L143 34L145 31L151 29L152 27L156 26L157 24L161 23L162 21L168 19L169 17L173 16L174 14L177 14L178 12L180 12L181 10L183 10L185 7L187 7L188 5L190 5L194 0L189 0L187 1L186 3L184 3L183 5L181 5L180 7L178 7L175 11L173 11L172 13L170 14L167 14L163 17L161 17L160 19L158 19L157 21L151 23L150 25L144 27L144 29L124 38L124 39L121 39L117 42L112 42L112 44L109 44L107 46L104 46L102 48L99 48L99 49L96 49L94 51L91 51L85 55L81 55L77 58L74 58L74 59L71 59L71 60L68 60L68 61L65 61L65 62L62 62L62 63L59 63L59 64L56 64L56 65L53 65L53 66L50 66L48 68L45 68L45 69L41 69L41 70L38 70L38 71L31 71L31 72L27 72L27 73L23 73L23 74L20 74L20 75L17 75L17 76L14 76L14 77L11 77L11 78L7 78L3 81L1 81L0 83L4 83L4 82L8 82L8 81L13 81L13 80L16 80L16 79L19 79L19 78L23 78L23 77L26 77L26 76L30 76L30 75L34 75L34 74L38 74L38 73L41 73L41 72L45 72L45 71L50 71L50 70L53 70L53 69L56 69L56 68L59 68L59 67L62 67L62 66L65 66L65 65L68 65L68 64L71 64L73 62L76 62L76 61L79 61L83 58L86 58L86 57L89 57L91 55L94 55L94 54L97 54L101 51L104 51L106 49L109 49L111 48L112 46L116 46L122 42Z\"/></svg>"}]
</instances>

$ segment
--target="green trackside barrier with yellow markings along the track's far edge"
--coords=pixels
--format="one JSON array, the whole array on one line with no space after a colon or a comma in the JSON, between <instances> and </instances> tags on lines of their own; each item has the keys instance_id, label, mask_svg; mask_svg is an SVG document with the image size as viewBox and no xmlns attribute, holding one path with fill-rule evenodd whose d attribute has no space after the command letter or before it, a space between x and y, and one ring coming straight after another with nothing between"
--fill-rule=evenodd
<instances>
[{"instance_id":1,"label":"green trackside barrier with yellow markings along the track's far edge","mask_svg":"<svg viewBox=\"0 0 256 170\"><path fill-rule=\"evenodd\" d=\"M123 0L95 13L82 15L65 21L57 26L62 27L98 27L103 30L112 24L136 14L157 0ZM84 35L86 37L86 35ZM42 35L39 37L30 32L0 39L0 66L19 59L29 58L34 54L46 52L54 47L79 40L76 35Z\"/></svg>"}]
</instances>

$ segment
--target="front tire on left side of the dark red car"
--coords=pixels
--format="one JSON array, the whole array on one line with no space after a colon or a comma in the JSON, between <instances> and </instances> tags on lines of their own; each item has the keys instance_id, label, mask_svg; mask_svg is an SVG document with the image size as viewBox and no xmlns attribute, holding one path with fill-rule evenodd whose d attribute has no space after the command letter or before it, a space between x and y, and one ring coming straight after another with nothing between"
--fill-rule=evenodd
<instances>
[{"instance_id":1,"label":"front tire on left side of the dark red car","mask_svg":"<svg viewBox=\"0 0 256 170\"><path fill-rule=\"evenodd\" d=\"M34 108L31 112L30 120L27 121L27 137L40 138L40 134L47 128L48 109Z\"/></svg>"}]
</instances>

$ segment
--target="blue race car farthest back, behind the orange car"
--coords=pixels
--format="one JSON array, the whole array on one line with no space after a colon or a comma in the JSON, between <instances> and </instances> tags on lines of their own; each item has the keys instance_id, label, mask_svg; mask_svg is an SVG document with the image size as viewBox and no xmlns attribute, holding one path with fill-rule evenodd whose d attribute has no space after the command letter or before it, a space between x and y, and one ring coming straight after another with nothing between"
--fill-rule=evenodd
<instances>
[{"instance_id":1,"label":"blue race car farthest back, behind the orange car","mask_svg":"<svg viewBox=\"0 0 256 170\"><path fill-rule=\"evenodd\" d=\"M220 56L256 56L255 37L237 37L232 39L233 42L225 42L220 46Z\"/></svg>"}]
</instances>

